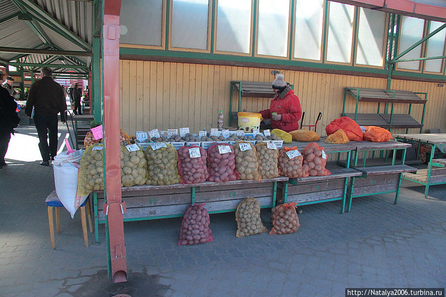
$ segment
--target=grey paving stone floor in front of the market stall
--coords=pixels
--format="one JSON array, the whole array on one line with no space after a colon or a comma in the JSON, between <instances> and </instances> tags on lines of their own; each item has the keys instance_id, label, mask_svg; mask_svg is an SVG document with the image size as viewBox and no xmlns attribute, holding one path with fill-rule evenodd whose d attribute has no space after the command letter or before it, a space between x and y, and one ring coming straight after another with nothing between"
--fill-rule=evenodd
<instances>
[{"instance_id":1,"label":"grey paving stone floor in front of the market stall","mask_svg":"<svg viewBox=\"0 0 446 297\"><path fill-rule=\"evenodd\" d=\"M178 246L181 219L125 224L128 282L107 278L105 228L84 247L80 218L62 212L51 249L45 197L53 170L39 165L37 133L20 126L0 170L0 296L344 296L348 287L444 288L446 186L403 182L392 194L303 206L292 235L236 238L234 213L213 214L214 240ZM60 144L66 128L60 124ZM262 221L271 228L269 210ZM89 234L90 242L94 235Z\"/></svg>"}]
</instances>

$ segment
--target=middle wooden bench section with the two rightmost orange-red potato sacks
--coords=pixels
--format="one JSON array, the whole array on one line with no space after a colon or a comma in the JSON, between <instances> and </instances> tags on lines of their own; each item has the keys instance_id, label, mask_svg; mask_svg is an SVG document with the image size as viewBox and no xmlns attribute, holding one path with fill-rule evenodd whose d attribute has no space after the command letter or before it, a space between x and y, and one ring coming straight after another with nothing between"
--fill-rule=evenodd
<instances>
[{"instance_id":1,"label":"middle wooden bench section with the two rightmost orange-red potato sacks","mask_svg":"<svg viewBox=\"0 0 446 297\"><path fill-rule=\"evenodd\" d=\"M343 168L333 170L331 175L323 177L292 178L285 184L283 201L308 205L342 200L341 213L343 213L348 179L361 175L362 173L357 170Z\"/></svg>"}]
</instances>

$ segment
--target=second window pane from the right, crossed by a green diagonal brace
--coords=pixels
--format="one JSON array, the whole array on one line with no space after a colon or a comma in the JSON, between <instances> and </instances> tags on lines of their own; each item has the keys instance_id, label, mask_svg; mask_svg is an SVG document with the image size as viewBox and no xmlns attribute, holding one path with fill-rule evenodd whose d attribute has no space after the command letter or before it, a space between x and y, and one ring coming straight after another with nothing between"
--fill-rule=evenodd
<instances>
[{"instance_id":1,"label":"second window pane from the right, crossed by a green diagonal brace","mask_svg":"<svg viewBox=\"0 0 446 297\"><path fill-rule=\"evenodd\" d=\"M399 37L398 54L404 52L417 41L423 38L424 20L416 17L402 16L401 17L401 32ZM400 59L417 59L421 57L421 44L402 56ZM399 62L398 68L403 69L420 69L420 61Z\"/></svg>"}]
</instances>

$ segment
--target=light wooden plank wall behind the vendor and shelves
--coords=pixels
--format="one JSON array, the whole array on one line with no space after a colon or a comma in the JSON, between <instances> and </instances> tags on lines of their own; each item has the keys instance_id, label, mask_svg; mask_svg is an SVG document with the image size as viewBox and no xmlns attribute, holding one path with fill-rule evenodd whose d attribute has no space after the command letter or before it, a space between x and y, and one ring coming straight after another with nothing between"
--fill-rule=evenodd
<instances>
[{"instance_id":1,"label":"light wooden plank wall behind the vendor and shelves","mask_svg":"<svg viewBox=\"0 0 446 297\"><path fill-rule=\"evenodd\" d=\"M189 64L156 61L120 60L121 127L130 135L136 130L189 126L191 131L216 127L217 113L223 110L229 124L229 96L232 80L274 80L272 69ZM280 70L280 69L275 69ZM282 71L282 70L281 70ZM317 132L325 135L325 126L342 113L345 87L385 88L384 78L325 74L306 71L283 72L294 84L305 111L304 124L314 123L319 111L322 119ZM425 129L440 128L446 133L446 88L438 83L392 80L392 89L427 92ZM234 92L233 110L238 95ZM243 98L242 111L258 112L269 108L270 99ZM377 103L361 103L361 113L376 113ZM383 108L383 107L382 107ZM347 98L346 112L354 112L355 100ZM395 113L407 113L407 104L396 104ZM421 121L422 106L414 105L412 115ZM234 123L233 123L234 125ZM395 129L392 132L404 132ZM418 132L410 129L409 132Z\"/></svg>"}]
</instances>

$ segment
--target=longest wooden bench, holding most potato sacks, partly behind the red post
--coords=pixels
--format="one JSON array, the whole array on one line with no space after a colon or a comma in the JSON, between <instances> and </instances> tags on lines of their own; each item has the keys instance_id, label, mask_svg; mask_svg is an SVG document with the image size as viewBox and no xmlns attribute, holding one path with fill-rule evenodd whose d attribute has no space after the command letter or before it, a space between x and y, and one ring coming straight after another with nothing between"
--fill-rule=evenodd
<instances>
[{"instance_id":1,"label":"longest wooden bench, holding most potato sacks, partly behind the red post","mask_svg":"<svg viewBox=\"0 0 446 297\"><path fill-rule=\"evenodd\" d=\"M122 188L122 199L127 212L124 222L183 217L194 203L206 203L209 213L236 211L246 197L255 197L261 208L276 204L277 183L287 182L286 177L228 182L206 181L198 184L135 185ZM93 192L96 241L99 240L98 224L105 223L104 191Z\"/></svg>"}]
</instances>

